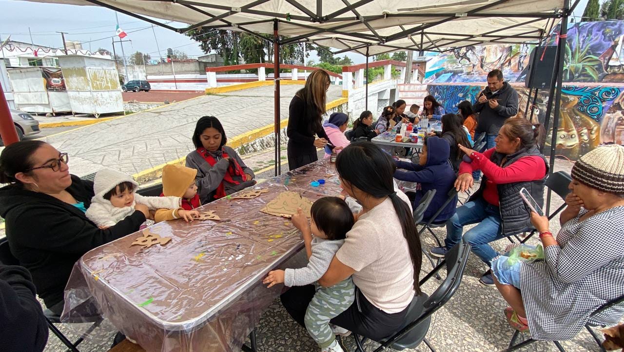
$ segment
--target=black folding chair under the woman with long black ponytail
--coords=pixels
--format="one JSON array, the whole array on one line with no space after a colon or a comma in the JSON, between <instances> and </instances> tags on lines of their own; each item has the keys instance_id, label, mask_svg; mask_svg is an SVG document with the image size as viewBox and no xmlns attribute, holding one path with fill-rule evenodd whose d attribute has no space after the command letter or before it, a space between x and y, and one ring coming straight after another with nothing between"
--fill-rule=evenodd
<instances>
[{"instance_id":1,"label":"black folding chair under the woman with long black ponytail","mask_svg":"<svg viewBox=\"0 0 624 352\"><path fill-rule=\"evenodd\" d=\"M392 336L389 336L389 338L377 341L381 343L381 346L379 346L375 352L379 352L388 347L399 351L405 350L406 348L416 348L421 342L424 342L427 347L429 347L429 350L436 352L425 337L427 331L429 331L431 316L451 300L457 288L459 288L469 255L470 245L464 241L457 243L457 245L446 253L444 260L442 260L431 273L428 273L422 278L419 285L424 285L432 276L437 275L437 272L440 271L442 266L446 265L447 275L444 281L442 281L431 296L427 297L424 293L420 296L414 296L401 328ZM360 338L360 336L356 334L353 334L353 338L357 346L356 351L364 352L362 345L368 338Z\"/></svg>"}]
</instances>

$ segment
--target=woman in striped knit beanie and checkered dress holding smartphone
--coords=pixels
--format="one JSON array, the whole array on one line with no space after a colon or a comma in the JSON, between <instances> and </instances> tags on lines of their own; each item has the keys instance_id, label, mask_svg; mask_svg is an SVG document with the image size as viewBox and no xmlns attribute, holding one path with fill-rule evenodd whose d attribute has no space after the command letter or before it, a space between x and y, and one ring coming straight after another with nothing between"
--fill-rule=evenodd
<instances>
[{"instance_id":1,"label":"woman in striped knit beanie and checkered dress holding smartphone","mask_svg":"<svg viewBox=\"0 0 624 352\"><path fill-rule=\"evenodd\" d=\"M572 167L569 188L557 238L547 217L531 214L544 260L492 261L496 286L510 305L507 320L535 340L569 340L586 323L614 325L624 315L624 306L615 305L590 318L624 295L624 147L606 145L583 155Z\"/></svg>"}]
</instances>

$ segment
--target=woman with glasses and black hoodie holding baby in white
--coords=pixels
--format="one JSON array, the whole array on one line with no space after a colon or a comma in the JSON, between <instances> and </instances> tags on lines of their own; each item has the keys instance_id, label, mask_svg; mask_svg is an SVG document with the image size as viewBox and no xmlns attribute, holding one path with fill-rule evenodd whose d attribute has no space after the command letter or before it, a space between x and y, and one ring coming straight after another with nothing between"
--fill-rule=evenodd
<instances>
[{"instance_id":1,"label":"woman with glasses and black hoodie holding baby in white","mask_svg":"<svg viewBox=\"0 0 624 352\"><path fill-rule=\"evenodd\" d=\"M63 310L63 290L84 253L139 230L149 211L136 211L101 230L85 212L93 182L69 174L67 153L41 140L9 145L0 154L0 216L11 253L32 275L37 294L54 313Z\"/></svg>"}]
</instances>

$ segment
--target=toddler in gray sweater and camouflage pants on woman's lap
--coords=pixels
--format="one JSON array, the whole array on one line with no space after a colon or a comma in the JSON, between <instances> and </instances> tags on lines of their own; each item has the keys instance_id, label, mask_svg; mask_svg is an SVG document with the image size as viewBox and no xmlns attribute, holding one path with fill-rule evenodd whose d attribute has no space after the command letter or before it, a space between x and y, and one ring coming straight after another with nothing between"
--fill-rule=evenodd
<instances>
[{"instance_id":1,"label":"toddler in gray sweater and camouflage pants on woman's lap","mask_svg":"<svg viewBox=\"0 0 624 352\"><path fill-rule=\"evenodd\" d=\"M329 326L329 320L351 306L355 286L350 277L331 287L320 286L317 281L329 268L329 263L343 245L346 233L351 230L355 221L347 203L338 197L316 200L311 208L311 218L310 231L303 232L308 266L270 271L263 282L268 283L268 287L277 283L284 283L289 287L314 283L316 293L306 311L306 329L321 346L321 351L342 352L336 335ZM307 221L301 208L298 215L293 215L293 222L295 221Z\"/></svg>"}]
</instances>

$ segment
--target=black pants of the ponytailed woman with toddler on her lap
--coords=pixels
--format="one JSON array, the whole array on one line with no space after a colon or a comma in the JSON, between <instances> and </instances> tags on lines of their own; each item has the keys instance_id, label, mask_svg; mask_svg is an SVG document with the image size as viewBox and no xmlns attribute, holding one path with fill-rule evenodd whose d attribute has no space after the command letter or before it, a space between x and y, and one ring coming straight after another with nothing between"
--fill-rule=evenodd
<instances>
[{"instance_id":1,"label":"black pants of the ponytailed woman with toddler on her lap","mask_svg":"<svg viewBox=\"0 0 624 352\"><path fill-rule=\"evenodd\" d=\"M314 285L295 286L282 293L281 303L293 319L305 326L303 318L314 296ZM395 333L403 323L407 308L399 313L386 313L370 303L356 288L356 298L348 310L331 320L334 325L366 336L372 340L381 340Z\"/></svg>"}]
</instances>

